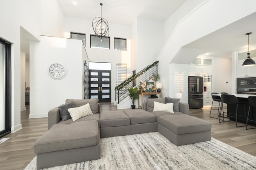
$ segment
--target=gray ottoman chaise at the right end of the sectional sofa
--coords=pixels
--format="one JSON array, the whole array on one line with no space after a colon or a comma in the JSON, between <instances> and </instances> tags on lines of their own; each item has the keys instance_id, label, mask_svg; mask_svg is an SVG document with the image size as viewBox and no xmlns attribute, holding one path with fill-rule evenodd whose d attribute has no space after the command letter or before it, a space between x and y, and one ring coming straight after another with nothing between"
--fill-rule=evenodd
<instances>
[{"instance_id":1,"label":"gray ottoman chaise at the right end of the sectional sofa","mask_svg":"<svg viewBox=\"0 0 256 170\"><path fill-rule=\"evenodd\" d=\"M190 115L163 115L158 117L158 132L176 146L211 140L212 125Z\"/></svg>"}]
</instances>

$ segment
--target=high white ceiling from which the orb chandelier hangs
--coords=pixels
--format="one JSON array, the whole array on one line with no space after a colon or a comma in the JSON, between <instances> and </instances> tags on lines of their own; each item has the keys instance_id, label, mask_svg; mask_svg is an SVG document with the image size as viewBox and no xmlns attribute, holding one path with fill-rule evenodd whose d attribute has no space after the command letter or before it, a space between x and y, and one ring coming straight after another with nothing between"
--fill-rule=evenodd
<instances>
[{"instance_id":1,"label":"high white ceiling from which the orb chandelier hangs","mask_svg":"<svg viewBox=\"0 0 256 170\"><path fill-rule=\"evenodd\" d=\"M132 25L136 17L167 20L186 0L58 0L64 16L92 20L100 16L110 23Z\"/></svg>"}]
</instances>

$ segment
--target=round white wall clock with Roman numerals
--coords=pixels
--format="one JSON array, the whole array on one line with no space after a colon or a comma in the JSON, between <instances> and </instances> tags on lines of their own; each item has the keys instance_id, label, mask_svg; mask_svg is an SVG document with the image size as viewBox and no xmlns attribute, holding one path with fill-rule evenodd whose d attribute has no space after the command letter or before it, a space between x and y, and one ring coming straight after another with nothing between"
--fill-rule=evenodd
<instances>
[{"instance_id":1,"label":"round white wall clock with Roman numerals","mask_svg":"<svg viewBox=\"0 0 256 170\"><path fill-rule=\"evenodd\" d=\"M51 78L55 80L60 80L67 75L68 70L64 65L54 63L51 66L49 66L48 72Z\"/></svg>"}]
</instances>

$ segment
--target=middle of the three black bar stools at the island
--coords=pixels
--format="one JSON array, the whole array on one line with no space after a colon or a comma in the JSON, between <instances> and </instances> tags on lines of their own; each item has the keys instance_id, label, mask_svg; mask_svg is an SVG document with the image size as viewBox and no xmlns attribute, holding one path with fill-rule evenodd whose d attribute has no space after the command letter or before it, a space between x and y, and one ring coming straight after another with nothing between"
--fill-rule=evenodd
<instances>
[{"instance_id":1,"label":"middle of the three black bar stools at the island","mask_svg":"<svg viewBox=\"0 0 256 170\"><path fill-rule=\"evenodd\" d=\"M236 105L236 113L230 113L230 115L226 115L226 116L228 116L227 118L230 118L230 117L236 118L236 127L242 127L242 126L237 126L237 115L238 115L237 112L238 112L238 105L244 105L244 103L240 103L237 100L236 96L234 96L232 94L222 94L221 100L222 100L222 102L228 104L229 113L230 113L230 105ZM236 116L232 116L231 114L236 115ZM243 116L243 115L240 115L240 116ZM220 117L221 117L221 114L220 114ZM244 105L244 116L243 117L245 117L245 119L246 119L245 105ZM223 112L223 119L224 119L224 112ZM230 119L228 121L230 121ZM219 122L224 122L224 121L220 121L220 119L219 119ZM243 125L243 126L246 126L246 125Z\"/></svg>"}]
</instances>

